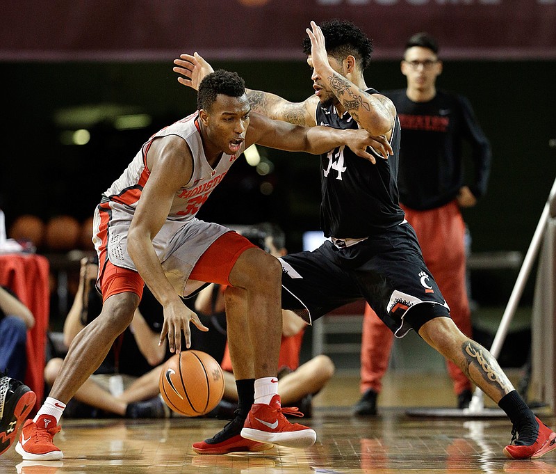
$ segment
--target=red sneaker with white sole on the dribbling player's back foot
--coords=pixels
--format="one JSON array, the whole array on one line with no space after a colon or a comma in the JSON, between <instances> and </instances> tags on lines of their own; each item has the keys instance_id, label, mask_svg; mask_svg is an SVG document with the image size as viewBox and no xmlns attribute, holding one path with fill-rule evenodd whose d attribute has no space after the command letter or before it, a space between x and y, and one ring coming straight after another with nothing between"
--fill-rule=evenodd
<instances>
[{"instance_id":1,"label":"red sneaker with white sole on the dribbling player's back foot","mask_svg":"<svg viewBox=\"0 0 556 474\"><path fill-rule=\"evenodd\" d=\"M22 458L29 461L56 461L64 457L64 453L56 448L52 439L62 429L56 425L56 418L42 415L37 422L27 420L23 425L22 434L15 445L15 450Z\"/></svg>"}]
</instances>

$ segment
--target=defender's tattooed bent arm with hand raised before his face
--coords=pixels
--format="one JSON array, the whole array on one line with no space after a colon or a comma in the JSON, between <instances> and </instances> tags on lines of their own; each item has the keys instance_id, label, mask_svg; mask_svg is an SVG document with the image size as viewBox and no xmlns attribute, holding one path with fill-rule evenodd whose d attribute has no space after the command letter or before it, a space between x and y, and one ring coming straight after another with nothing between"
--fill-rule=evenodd
<instances>
[{"instance_id":1,"label":"defender's tattooed bent arm with hand raised before his face","mask_svg":"<svg viewBox=\"0 0 556 474\"><path fill-rule=\"evenodd\" d=\"M320 27L311 22L311 28L312 31L306 31L311 39L311 63L315 73L362 128L374 136L389 136L395 120L392 101L382 94L368 94L338 74L329 64L325 37Z\"/></svg>"}]
</instances>

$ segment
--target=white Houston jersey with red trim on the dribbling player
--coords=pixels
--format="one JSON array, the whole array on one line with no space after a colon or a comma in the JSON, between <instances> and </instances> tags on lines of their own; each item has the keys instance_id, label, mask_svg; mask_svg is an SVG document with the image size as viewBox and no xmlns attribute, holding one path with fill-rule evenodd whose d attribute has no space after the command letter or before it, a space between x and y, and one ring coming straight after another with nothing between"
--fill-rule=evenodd
<instances>
[{"instance_id":1,"label":"white Houston jersey with red trim on the dribbling player","mask_svg":"<svg viewBox=\"0 0 556 474\"><path fill-rule=\"evenodd\" d=\"M103 193L103 201L113 201L135 209L141 191L149 179L147 152L152 142L163 136L176 135L181 136L191 150L193 175L190 181L176 192L167 219L174 221L193 219L213 189L222 181L230 166L236 161L236 157L243 152L245 146L242 145L236 155L222 153L220 161L213 168L208 164L204 155L202 138L197 125L198 116L199 112L197 111L154 134L149 141L142 145L124 173Z\"/></svg>"}]
</instances>

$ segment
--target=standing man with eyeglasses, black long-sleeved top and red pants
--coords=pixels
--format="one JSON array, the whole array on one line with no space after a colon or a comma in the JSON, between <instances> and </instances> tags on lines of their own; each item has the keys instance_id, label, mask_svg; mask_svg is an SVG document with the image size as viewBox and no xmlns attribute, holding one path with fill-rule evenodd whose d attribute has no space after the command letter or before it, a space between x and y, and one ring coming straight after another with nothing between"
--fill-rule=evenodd
<instances>
[{"instance_id":1,"label":"standing man with eyeglasses, black long-sleeved top and red pants","mask_svg":"<svg viewBox=\"0 0 556 474\"><path fill-rule=\"evenodd\" d=\"M402 126L398 187L407 221L417 233L425 263L438 283L450 315L471 337L466 292L466 227L461 207L473 207L486 191L491 148L468 100L436 89L443 64L439 47L427 33L407 41L401 64L407 88L385 92L398 110ZM464 184L462 143L473 150L473 182ZM377 394L388 368L393 337L367 305L361 347L361 400L354 413L376 414ZM471 382L451 361L448 373L457 406L471 402Z\"/></svg>"}]
</instances>

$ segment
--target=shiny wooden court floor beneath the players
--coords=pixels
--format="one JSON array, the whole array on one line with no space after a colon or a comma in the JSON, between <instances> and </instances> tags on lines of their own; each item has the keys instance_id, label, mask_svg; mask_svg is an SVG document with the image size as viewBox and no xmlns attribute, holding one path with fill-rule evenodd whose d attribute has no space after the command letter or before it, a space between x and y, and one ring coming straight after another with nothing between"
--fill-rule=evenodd
<instances>
[{"instance_id":1,"label":"shiny wooden court floor beneath the players","mask_svg":"<svg viewBox=\"0 0 556 474\"><path fill-rule=\"evenodd\" d=\"M511 438L506 418L409 416L411 406L453 406L442 375L385 382L379 416L357 418L351 414L357 377L336 376L316 397L313 417L304 420L318 434L306 450L196 455L191 444L212 436L222 420L63 420L56 436L62 461L22 461L12 447L0 457L0 473L556 473L556 453L536 461L505 458L502 448ZM550 409L539 416L556 426Z\"/></svg>"}]
</instances>

